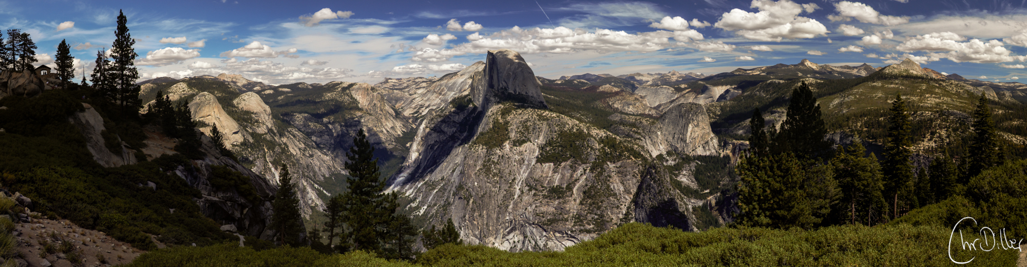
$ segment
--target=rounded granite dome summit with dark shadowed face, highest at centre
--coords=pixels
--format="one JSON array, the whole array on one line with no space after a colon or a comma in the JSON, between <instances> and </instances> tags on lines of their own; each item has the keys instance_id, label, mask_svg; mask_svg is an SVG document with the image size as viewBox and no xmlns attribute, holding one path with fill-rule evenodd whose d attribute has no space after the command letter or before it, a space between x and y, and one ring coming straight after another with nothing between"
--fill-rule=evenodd
<instances>
[{"instance_id":1,"label":"rounded granite dome summit with dark shadowed face, highest at centre","mask_svg":"<svg viewBox=\"0 0 1027 267\"><path fill-rule=\"evenodd\" d=\"M509 101L547 107L542 85L521 54L509 49L489 50L485 61L484 84L470 90L474 104L488 110L492 103Z\"/></svg>"}]
</instances>

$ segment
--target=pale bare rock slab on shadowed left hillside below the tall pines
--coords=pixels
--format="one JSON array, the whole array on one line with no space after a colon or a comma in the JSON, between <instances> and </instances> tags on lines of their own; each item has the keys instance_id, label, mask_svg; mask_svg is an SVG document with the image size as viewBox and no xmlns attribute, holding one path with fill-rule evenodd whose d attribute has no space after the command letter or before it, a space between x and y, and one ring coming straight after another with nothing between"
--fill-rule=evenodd
<instances>
[{"instance_id":1,"label":"pale bare rock slab on shadowed left hillside below the tall pines","mask_svg":"<svg viewBox=\"0 0 1027 267\"><path fill-rule=\"evenodd\" d=\"M82 137L85 138L86 149L92 154L92 159L105 167L137 163L135 150L129 149L124 142L120 144L120 155L112 153L107 149L106 142L102 136L102 132L106 129L104 127L104 118L88 104L83 103L82 106L85 107L85 111L76 112L68 120L82 131Z\"/></svg>"}]
</instances>

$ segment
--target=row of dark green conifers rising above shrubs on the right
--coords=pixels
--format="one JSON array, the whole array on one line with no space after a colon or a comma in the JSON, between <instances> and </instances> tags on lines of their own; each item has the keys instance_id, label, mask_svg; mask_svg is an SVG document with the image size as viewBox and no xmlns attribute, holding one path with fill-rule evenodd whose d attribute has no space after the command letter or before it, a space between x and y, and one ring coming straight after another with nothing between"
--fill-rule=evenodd
<instances>
[{"instance_id":1,"label":"row of dark green conifers rising above shrubs on the right","mask_svg":"<svg viewBox=\"0 0 1027 267\"><path fill-rule=\"evenodd\" d=\"M862 142L837 146L828 134L809 85L792 91L781 129L767 127L759 109L750 119L750 148L735 168L736 223L752 227L813 228L841 224L876 225L902 212L963 195L963 185L1003 161L988 99L974 112L969 155L946 152L917 171L911 158L910 112L897 94L887 118L882 160Z\"/></svg>"}]
</instances>

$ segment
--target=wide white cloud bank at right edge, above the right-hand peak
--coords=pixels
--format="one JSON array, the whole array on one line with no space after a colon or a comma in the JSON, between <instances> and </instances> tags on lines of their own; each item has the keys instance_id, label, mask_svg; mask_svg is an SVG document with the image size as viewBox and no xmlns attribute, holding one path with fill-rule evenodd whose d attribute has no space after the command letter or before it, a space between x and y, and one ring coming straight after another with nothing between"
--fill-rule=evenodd
<instances>
[{"instance_id":1,"label":"wide white cloud bank at right edge, above the right-hand peak","mask_svg":"<svg viewBox=\"0 0 1027 267\"><path fill-rule=\"evenodd\" d=\"M1027 56L1012 54L1005 49L1003 43L998 40L982 41L973 39L965 41L965 37L951 32L930 33L910 37L899 46L897 50L929 51L929 56L949 59L955 63L1004 63L1019 61L1023 62Z\"/></svg>"}]
</instances>

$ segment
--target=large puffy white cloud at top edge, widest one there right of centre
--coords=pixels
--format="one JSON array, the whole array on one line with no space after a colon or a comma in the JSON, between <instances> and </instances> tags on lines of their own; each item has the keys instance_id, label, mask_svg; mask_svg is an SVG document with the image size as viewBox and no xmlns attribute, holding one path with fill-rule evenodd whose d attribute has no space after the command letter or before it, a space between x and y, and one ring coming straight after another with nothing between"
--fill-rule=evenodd
<instances>
[{"instance_id":1,"label":"large puffy white cloud at top edge, widest one there right of centre","mask_svg":"<svg viewBox=\"0 0 1027 267\"><path fill-rule=\"evenodd\" d=\"M820 8L814 3L800 5L791 0L753 0L750 7L760 11L753 13L731 9L722 14L714 27L758 41L813 38L829 33L827 27L816 20L799 16L803 11L808 13Z\"/></svg>"}]
</instances>

